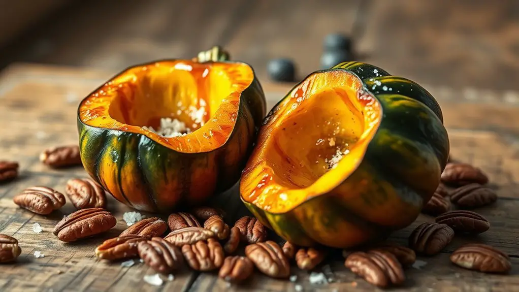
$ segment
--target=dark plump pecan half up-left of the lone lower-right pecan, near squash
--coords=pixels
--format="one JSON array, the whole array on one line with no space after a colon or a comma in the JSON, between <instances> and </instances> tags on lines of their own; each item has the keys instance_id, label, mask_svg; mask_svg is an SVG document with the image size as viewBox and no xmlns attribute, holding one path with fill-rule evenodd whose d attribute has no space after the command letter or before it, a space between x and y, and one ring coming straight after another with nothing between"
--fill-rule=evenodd
<instances>
[{"instance_id":1,"label":"dark plump pecan half up-left of the lone lower-right pecan, near squash","mask_svg":"<svg viewBox=\"0 0 519 292\"><path fill-rule=\"evenodd\" d=\"M432 256L442 251L454 238L454 230L445 224L422 223L409 235L409 247Z\"/></svg>"}]
</instances>

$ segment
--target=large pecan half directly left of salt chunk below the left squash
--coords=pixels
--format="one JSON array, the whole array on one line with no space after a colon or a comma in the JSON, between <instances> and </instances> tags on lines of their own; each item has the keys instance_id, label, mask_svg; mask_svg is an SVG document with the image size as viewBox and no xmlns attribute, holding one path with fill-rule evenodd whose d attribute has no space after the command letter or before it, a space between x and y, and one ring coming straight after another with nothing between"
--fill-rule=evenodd
<instances>
[{"instance_id":1,"label":"large pecan half directly left of salt chunk below the left squash","mask_svg":"<svg viewBox=\"0 0 519 292\"><path fill-rule=\"evenodd\" d=\"M81 209L61 219L53 233L61 241L72 242L108 231L116 224L117 219L102 208Z\"/></svg>"}]
</instances>

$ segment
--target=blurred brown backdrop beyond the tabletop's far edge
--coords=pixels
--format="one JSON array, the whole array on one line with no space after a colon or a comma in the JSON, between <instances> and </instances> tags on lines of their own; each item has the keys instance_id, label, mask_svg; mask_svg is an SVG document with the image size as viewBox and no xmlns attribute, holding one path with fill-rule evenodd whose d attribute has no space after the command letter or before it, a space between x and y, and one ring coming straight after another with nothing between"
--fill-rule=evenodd
<instances>
[{"instance_id":1,"label":"blurred brown backdrop beyond the tabletop's far edge","mask_svg":"<svg viewBox=\"0 0 519 292\"><path fill-rule=\"evenodd\" d=\"M417 82L519 89L517 0L2 1L0 66L36 62L110 72L213 45L263 81L273 58L299 78L320 68L330 33L354 59Z\"/></svg>"}]
</instances>

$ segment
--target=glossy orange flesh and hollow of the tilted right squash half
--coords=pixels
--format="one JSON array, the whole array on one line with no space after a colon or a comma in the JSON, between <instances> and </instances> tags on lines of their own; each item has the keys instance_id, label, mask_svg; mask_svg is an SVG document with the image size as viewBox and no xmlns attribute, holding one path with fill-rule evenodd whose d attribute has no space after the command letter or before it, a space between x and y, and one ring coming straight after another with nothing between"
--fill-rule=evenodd
<instances>
[{"instance_id":1,"label":"glossy orange flesh and hollow of the tilted right squash half","mask_svg":"<svg viewBox=\"0 0 519 292\"><path fill-rule=\"evenodd\" d=\"M378 101L344 70L295 87L260 131L242 177L243 199L284 213L342 183L361 163L380 124Z\"/></svg>"}]
</instances>

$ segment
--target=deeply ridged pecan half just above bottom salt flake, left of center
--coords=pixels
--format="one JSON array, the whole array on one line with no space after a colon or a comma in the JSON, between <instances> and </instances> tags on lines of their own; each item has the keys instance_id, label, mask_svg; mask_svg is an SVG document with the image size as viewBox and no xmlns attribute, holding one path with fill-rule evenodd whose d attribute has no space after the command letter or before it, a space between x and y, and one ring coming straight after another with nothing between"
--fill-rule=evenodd
<instances>
[{"instance_id":1,"label":"deeply ridged pecan half just above bottom salt flake, left of center","mask_svg":"<svg viewBox=\"0 0 519 292\"><path fill-rule=\"evenodd\" d=\"M159 237L139 243L139 256L144 263L159 273L171 273L184 262L180 249Z\"/></svg>"}]
</instances>

